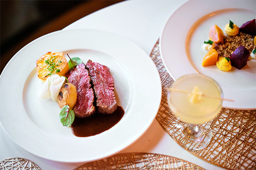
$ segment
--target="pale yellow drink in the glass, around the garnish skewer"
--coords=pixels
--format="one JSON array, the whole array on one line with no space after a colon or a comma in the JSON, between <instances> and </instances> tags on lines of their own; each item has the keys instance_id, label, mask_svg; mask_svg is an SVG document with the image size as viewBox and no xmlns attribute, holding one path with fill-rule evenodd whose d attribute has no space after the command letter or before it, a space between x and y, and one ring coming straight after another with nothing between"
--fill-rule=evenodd
<instances>
[{"instance_id":1,"label":"pale yellow drink in the glass, around the garnish skewer","mask_svg":"<svg viewBox=\"0 0 256 170\"><path fill-rule=\"evenodd\" d=\"M201 124L215 118L222 108L222 91L215 80L201 75L189 74L177 79L171 88L190 91L197 86L203 95L217 97L213 99L202 96L199 102L191 103L190 95L177 91L169 91L169 107L183 122Z\"/></svg>"}]
</instances>

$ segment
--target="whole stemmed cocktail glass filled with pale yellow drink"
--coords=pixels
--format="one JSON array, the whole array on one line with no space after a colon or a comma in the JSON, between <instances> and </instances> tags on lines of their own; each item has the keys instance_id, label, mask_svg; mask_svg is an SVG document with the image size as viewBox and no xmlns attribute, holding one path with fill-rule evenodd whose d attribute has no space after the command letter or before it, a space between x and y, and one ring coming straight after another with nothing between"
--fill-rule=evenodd
<instances>
[{"instance_id":1,"label":"whole stemmed cocktail glass filled with pale yellow drink","mask_svg":"<svg viewBox=\"0 0 256 170\"><path fill-rule=\"evenodd\" d=\"M200 150L209 144L212 130L207 123L221 111L223 92L212 78L188 74L172 83L168 104L180 121L173 129L173 138L186 150Z\"/></svg>"}]
</instances>

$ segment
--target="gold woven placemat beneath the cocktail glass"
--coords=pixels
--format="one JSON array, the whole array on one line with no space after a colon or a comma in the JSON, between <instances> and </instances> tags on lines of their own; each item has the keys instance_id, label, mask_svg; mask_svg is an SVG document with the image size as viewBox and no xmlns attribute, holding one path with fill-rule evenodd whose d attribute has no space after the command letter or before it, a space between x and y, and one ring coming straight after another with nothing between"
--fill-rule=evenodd
<instances>
[{"instance_id":1,"label":"gold woven placemat beneath the cocktail glass","mask_svg":"<svg viewBox=\"0 0 256 170\"><path fill-rule=\"evenodd\" d=\"M173 79L161 60L159 40L150 57L159 71L162 82L162 101L156 119L172 137L172 130L179 119L172 114L167 104L166 89L170 87ZM256 170L256 110L222 108L218 116L209 123L215 134L208 147L189 152L204 161L227 169ZM186 145L182 142L177 143L180 146Z\"/></svg>"}]
</instances>

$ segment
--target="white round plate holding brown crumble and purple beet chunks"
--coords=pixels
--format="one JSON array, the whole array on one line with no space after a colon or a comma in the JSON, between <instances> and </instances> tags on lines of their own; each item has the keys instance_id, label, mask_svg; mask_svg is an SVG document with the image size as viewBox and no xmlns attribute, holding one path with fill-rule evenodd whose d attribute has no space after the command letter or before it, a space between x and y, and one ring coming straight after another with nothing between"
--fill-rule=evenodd
<instances>
[{"instance_id":1,"label":"white round plate holding brown crumble and purple beet chunks","mask_svg":"<svg viewBox=\"0 0 256 170\"><path fill-rule=\"evenodd\" d=\"M229 20L238 27L256 16L253 0L191 0L178 8L167 20L160 36L160 54L166 70L176 80L185 74L205 74L215 79L224 91L224 108L256 109L256 60L241 70L224 72L216 66L203 67L209 29L219 26L223 32Z\"/></svg>"}]
</instances>

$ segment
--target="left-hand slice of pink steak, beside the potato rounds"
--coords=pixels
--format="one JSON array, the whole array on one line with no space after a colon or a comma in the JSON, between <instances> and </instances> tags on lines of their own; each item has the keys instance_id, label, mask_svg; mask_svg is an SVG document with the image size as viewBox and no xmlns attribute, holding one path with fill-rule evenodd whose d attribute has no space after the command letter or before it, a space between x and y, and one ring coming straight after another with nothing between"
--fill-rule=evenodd
<instances>
[{"instance_id":1,"label":"left-hand slice of pink steak, beside the potato rounds","mask_svg":"<svg viewBox=\"0 0 256 170\"><path fill-rule=\"evenodd\" d=\"M95 112L94 92L90 84L90 76L84 64L79 64L67 73L68 81L75 85L77 99L73 108L77 117L83 118Z\"/></svg>"}]
</instances>

